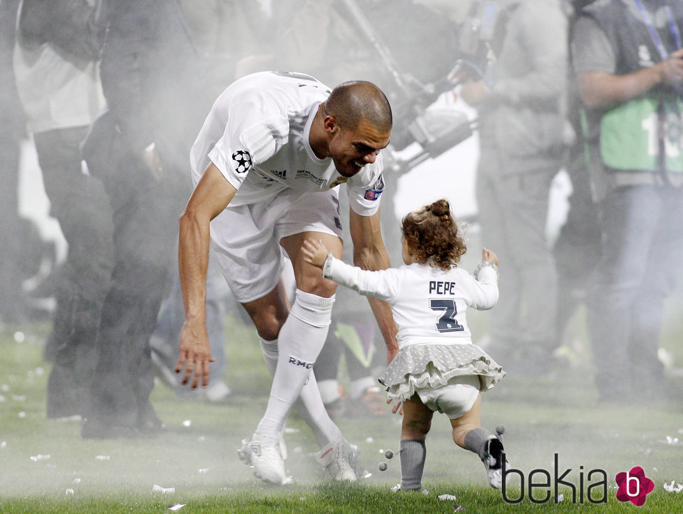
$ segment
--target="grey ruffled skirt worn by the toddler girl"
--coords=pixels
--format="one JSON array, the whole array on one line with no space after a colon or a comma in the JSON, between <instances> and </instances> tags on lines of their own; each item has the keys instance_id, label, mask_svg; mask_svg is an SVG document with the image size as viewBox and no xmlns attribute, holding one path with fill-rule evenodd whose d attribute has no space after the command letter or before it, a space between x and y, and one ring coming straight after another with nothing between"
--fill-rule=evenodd
<instances>
[{"instance_id":1,"label":"grey ruffled skirt worn by the toddler girl","mask_svg":"<svg viewBox=\"0 0 683 514\"><path fill-rule=\"evenodd\" d=\"M479 391L491 389L505 371L479 346L471 343L452 345L410 345L399 352L379 377L392 400L408 400L417 389L436 389L453 377L479 376Z\"/></svg>"}]
</instances>

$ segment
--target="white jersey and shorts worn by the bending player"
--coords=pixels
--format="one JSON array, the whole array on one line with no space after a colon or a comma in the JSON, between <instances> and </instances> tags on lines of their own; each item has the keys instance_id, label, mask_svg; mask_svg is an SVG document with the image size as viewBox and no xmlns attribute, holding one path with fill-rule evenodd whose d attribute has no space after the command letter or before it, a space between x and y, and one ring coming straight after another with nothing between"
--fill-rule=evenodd
<instances>
[{"instance_id":1,"label":"white jersey and shorts worn by the bending player","mask_svg":"<svg viewBox=\"0 0 683 514\"><path fill-rule=\"evenodd\" d=\"M192 146L194 185L213 162L238 189L211 221L211 240L239 302L262 297L279 281L282 237L317 231L342 238L338 185L346 184L357 214L379 207L380 155L346 178L337 168L348 163L319 159L311 148L311 125L328 95L330 88L309 75L247 75L217 98Z\"/></svg>"}]
</instances>

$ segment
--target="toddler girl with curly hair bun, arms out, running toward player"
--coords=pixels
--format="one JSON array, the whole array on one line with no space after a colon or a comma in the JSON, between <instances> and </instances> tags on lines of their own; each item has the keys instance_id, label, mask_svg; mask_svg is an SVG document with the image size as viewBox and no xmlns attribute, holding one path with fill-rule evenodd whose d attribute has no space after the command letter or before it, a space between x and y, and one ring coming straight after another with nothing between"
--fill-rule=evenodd
<instances>
[{"instance_id":1,"label":"toddler girl with curly hair bun, arms out, running toward player","mask_svg":"<svg viewBox=\"0 0 683 514\"><path fill-rule=\"evenodd\" d=\"M505 372L473 344L465 319L468 307L491 309L498 301L498 258L484 249L472 276L457 266L466 251L447 200L410 212L401 224L405 265L364 271L336 259L319 241L305 240L307 263L323 276L361 295L390 304L398 355L379 378L393 412L404 414L401 429L401 490L422 488L422 469L435 411L446 414L455 444L484 462L489 483L500 488L502 441L479 422L480 392ZM392 352L390 352L391 355Z\"/></svg>"}]
</instances>

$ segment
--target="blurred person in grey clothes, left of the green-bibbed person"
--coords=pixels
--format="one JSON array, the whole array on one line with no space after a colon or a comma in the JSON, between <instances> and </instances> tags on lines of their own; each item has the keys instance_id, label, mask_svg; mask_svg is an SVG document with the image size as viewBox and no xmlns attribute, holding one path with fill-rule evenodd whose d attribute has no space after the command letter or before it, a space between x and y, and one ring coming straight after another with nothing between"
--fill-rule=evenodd
<instances>
[{"instance_id":1,"label":"blurred person in grey clothes, left of the green-bibbed person","mask_svg":"<svg viewBox=\"0 0 683 514\"><path fill-rule=\"evenodd\" d=\"M460 89L479 118L482 237L505 263L485 348L511 375L539 376L553 368L557 341L557 273L546 220L562 158L567 19L558 0L486 4L496 8L489 68Z\"/></svg>"}]
</instances>

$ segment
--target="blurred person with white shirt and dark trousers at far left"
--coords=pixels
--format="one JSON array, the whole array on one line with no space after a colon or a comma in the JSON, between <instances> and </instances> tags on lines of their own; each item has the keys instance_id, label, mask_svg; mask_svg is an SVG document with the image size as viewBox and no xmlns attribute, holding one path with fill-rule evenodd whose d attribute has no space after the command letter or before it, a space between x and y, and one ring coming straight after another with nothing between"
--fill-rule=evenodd
<instances>
[{"instance_id":1,"label":"blurred person with white shirt and dark trousers at far left","mask_svg":"<svg viewBox=\"0 0 683 514\"><path fill-rule=\"evenodd\" d=\"M98 55L101 2L23 0L14 69L36 144L50 214L68 242L52 277L56 311L47 417L82 416L95 373L95 338L113 266L112 215L99 178L84 173L79 145L105 106Z\"/></svg>"}]
</instances>

